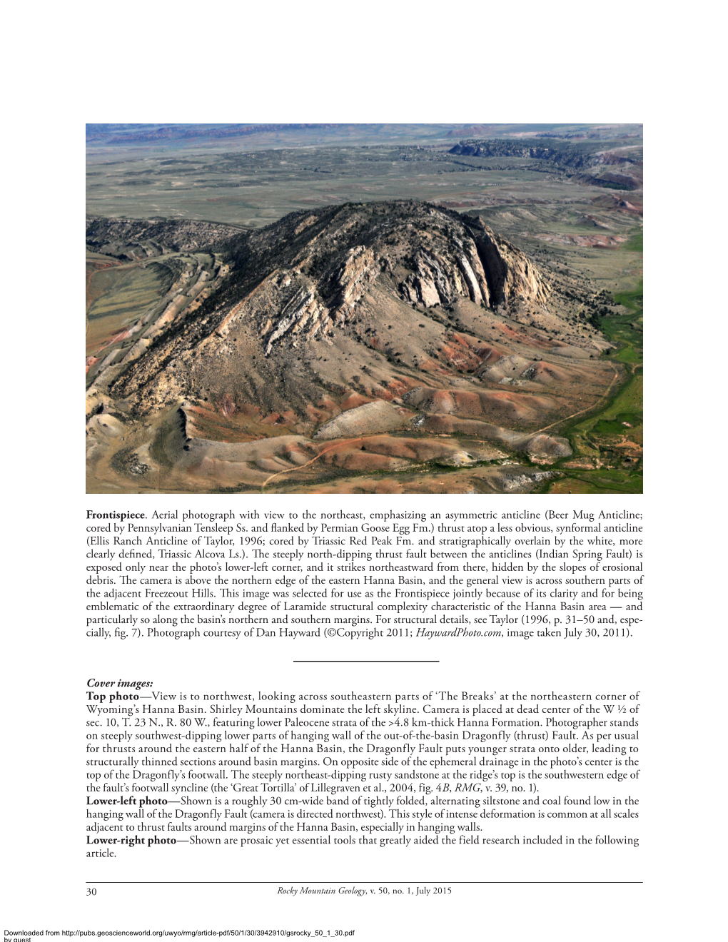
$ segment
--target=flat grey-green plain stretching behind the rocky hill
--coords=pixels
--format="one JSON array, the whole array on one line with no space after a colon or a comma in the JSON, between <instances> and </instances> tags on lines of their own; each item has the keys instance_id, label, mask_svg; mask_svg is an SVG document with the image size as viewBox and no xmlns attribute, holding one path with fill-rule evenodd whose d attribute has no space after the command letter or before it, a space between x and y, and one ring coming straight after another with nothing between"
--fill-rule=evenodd
<instances>
[{"instance_id":1,"label":"flat grey-green plain stretching behind the rocky hill","mask_svg":"<svg viewBox=\"0 0 728 942\"><path fill-rule=\"evenodd\" d=\"M258 227L297 209L334 203L413 199L465 211L500 204L589 206L593 193L601 192L571 182L553 165L525 157L448 154L452 143L179 156L91 152L87 212Z\"/></svg>"}]
</instances>

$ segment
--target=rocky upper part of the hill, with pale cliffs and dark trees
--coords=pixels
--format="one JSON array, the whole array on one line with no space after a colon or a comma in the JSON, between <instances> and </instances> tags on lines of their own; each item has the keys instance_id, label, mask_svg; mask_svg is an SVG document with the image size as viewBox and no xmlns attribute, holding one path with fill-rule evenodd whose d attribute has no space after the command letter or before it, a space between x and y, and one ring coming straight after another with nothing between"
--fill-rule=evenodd
<instances>
[{"instance_id":1,"label":"rocky upper part of the hill, with pale cliffs and dark trees","mask_svg":"<svg viewBox=\"0 0 728 942\"><path fill-rule=\"evenodd\" d=\"M178 395L199 395L202 388L213 396L271 399L272 408L282 361L297 349L297 361L307 358L312 341L332 346L334 338L346 349L358 344L380 352L377 359L384 362L369 366L377 377L368 391L377 386L377 392L390 382L380 376L382 368L391 372L389 359L411 368L433 356L443 359L432 333L446 333L452 319L446 311L456 301L488 310L517 302L538 308L549 296L538 268L479 219L425 203L294 213L235 236L221 251L231 274L218 293L196 317L175 321L113 385L115 395L134 397L141 411ZM417 310L439 317L420 327ZM384 324L387 319L396 322ZM319 375L332 372L335 378L324 379L324 386L348 385L341 364L319 368ZM320 396L304 377L299 388L286 385L288 408Z\"/></svg>"}]
</instances>

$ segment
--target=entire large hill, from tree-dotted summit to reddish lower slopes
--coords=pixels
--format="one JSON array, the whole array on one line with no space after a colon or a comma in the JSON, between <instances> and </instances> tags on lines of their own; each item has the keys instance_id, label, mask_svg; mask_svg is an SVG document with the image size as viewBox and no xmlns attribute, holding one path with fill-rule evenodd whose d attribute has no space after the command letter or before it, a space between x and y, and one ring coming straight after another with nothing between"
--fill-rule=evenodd
<instances>
[{"instance_id":1,"label":"entire large hill, from tree-dotted summit to reddish lower slopes","mask_svg":"<svg viewBox=\"0 0 728 942\"><path fill-rule=\"evenodd\" d=\"M89 389L93 461L132 430L141 443L108 464L117 477L169 467L209 489L506 458L483 440L548 463L570 449L542 430L615 377L604 338L567 321L570 302L523 252L429 203L302 211L202 251L206 272L187 260L160 316ZM423 438L440 441L413 445Z\"/></svg>"}]
</instances>

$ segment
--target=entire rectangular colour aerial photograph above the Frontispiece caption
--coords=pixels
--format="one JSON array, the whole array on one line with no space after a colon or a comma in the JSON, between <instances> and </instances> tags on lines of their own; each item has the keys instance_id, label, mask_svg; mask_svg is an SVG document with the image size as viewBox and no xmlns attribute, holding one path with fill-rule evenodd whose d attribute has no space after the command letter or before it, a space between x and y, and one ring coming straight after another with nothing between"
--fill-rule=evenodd
<instances>
[{"instance_id":1,"label":"entire rectangular colour aerial photograph above the Frontispiece caption","mask_svg":"<svg viewBox=\"0 0 728 942\"><path fill-rule=\"evenodd\" d=\"M89 494L638 494L641 124L87 124Z\"/></svg>"}]
</instances>

